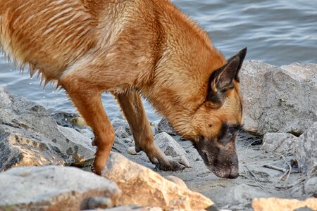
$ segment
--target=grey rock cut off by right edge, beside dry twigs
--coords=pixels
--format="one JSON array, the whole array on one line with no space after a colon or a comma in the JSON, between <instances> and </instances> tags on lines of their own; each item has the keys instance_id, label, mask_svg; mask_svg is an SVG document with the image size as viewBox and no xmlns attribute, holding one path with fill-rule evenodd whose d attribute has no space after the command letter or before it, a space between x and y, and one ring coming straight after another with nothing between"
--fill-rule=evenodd
<instances>
[{"instance_id":1,"label":"grey rock cut off by right edge, beside dry twigs","mask_svg":"<svg viewBox=\"0 0 317 211\"><path fill-rule=\"evenodd\" d=\"M294 155L299 167L309 173L309 177L317 177L317 122L294 143Z\"/></svg>"}]
</instances>

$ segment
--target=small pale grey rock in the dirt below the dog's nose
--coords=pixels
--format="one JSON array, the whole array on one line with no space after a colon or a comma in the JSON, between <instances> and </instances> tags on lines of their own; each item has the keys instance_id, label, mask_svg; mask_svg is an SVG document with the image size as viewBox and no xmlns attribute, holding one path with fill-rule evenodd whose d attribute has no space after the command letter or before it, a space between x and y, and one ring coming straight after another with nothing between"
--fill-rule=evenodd
<instances>
[{"instance_id":1,"label":"small pale grey rock in the dirt below the dog's nose","mask_svg":"<svg viewBox=\"0 0 317 211\"><path fill-rule=\"evenodd\" d=\"M267 193L256 190L247 184L234 186L228 191L226 198L230 198L233 205L250 203L253 198L267 197Z\"/></svg>"}]
</instances>

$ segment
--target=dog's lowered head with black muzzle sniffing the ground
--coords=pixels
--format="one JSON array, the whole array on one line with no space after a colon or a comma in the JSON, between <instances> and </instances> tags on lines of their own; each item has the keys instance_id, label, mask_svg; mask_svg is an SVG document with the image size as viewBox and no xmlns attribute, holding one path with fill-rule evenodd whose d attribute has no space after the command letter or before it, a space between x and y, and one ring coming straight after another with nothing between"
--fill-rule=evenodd
<instances>
[{"instance_id":1,"label":"dog's lowered head with black muzzle sniffing the ground","mask_svg":"<svg viewBox=\"0 0 317 211\"><path fill-rule=\"evenodd\" d=\"M246 53L243 49L213 71L206 101L192 117L194 147L218 177L239 176L235 141L242 127L242 99L238 73Z\"/></svg>"}]
</instances>

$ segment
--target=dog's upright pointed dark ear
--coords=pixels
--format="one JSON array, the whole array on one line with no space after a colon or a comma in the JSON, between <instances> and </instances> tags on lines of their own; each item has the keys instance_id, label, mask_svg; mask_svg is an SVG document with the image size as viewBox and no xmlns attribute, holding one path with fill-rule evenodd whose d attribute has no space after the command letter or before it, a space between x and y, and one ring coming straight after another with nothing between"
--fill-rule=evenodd
<instances>
[{"instance_id":1,"label":"dog's upright pointed dark ear","mask_svg":"<svg viewBox=\"0 0 317 211\"><path fill-rule=\"evenodd\" d=\"M232 56L227 64L211 74L209 78L210 89L207 101L212 101L217 106L222 106L225 91L228 91L235 86L233 80L239 82L238 74L246 54L247 48L243 49L235 56Z\"/></svg>"}]
</instances>

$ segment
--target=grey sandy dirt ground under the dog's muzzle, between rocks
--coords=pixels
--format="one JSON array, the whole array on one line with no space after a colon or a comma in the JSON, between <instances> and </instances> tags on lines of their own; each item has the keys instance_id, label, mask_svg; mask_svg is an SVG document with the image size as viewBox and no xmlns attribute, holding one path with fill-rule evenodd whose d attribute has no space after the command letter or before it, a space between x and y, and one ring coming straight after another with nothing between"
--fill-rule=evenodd
<instances>
[{"instance_id":1,"label":"grey sandy dirt ground under the dog's muzzle, between rocks","mask_svg":"<svg viewBox=\"0 0 317 211\"><path fill-rule=\"evenodd\" d=\"M141 165L155 170L163 176L173 175L179 177L187 184L192 191L197 191L204 196L211 198L220 209L224 210L251 210L252 198L278 197L278 198L302 198L302 175L296 173L285 175L283 172L271 170L263 165L274 165L286 167L291 157L282 158L275 153L262 151L262 139L241 132L237 139L237 154L240 162L240 177L237 179L220 179L211 173L204 165L201 157L190 141L182 141L180 136L173 136L180 146L185 148L187 159L192 165L182 172L163 172L157 170L149 162L145 153L137 155L127 153L127 146L124 143L115 143L113 151L123 153ZM120 140L119 140L120 141ZM285 160L287 162L285 162Z\"/></svg>"}]
</instances>

